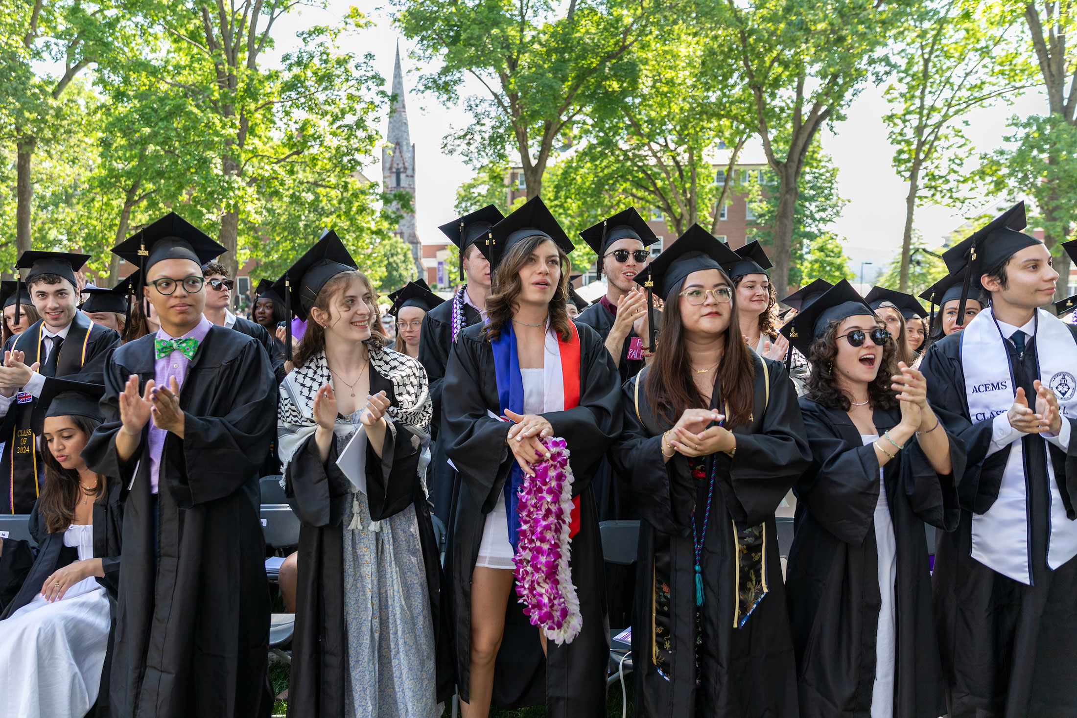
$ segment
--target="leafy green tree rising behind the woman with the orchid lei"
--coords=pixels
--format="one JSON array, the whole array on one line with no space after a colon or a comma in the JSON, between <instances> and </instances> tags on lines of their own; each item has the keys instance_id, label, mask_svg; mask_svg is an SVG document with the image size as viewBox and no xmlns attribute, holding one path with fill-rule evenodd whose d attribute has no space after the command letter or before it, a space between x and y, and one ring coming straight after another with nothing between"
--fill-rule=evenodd
<instances>
[{"instance_id":1,"label":"leafy green tree rising behind the woman with the orchid lei","mask_svg":"<svg viewBox=\"0 0 1077 718\"><path fill-rule=\"evenodd\" d=\"M651 0L482 2L393 0L395 22L436 70L420 87L456 103L465 79L484 87L464 97L473 122L446 138L476 165L519 157L528 197L540 194L555 152L597 103L617 97L634 74L629 53L654 20Z\"/></svg>"}]
</instances>

